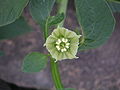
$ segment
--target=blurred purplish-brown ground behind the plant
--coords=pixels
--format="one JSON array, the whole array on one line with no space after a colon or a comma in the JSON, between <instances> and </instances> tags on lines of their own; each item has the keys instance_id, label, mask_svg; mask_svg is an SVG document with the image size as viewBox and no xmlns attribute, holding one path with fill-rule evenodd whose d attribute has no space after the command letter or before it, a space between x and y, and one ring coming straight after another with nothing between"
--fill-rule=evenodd
<instances>
[{"instance_id":1,"label":"blurred purplish-brown ground behind the plant","mask_svg":"<svg viewBox=\"0 0 120 90\"><path fill-rule=\"evenodd\" d=\"M55 6L56 7L56 6ZM56 12L53 8L52 14ZM49 68L39 73L23 73L23 58L29 52L44 52L43 36L26 7L24 17L34 31L15 38L1 40L0 90L53 90ZM59 62L61 78L66 88L77 90L120 90L120 14L114 14L116 28L110 39L101 47L78 52L77 60ZM65 27L78 26L74 0L69 0Z\"/></svg>"}]
</instances>

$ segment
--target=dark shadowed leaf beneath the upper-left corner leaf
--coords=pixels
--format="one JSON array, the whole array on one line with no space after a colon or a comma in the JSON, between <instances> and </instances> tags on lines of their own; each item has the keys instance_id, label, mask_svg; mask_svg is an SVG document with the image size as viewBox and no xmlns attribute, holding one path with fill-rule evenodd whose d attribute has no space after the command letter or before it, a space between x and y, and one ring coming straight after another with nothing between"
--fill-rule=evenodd
<instances>
[{"instance_id":1,"label":"dark shadowed leaf beneath the upper-left corner leaf","mask_svg":"<svg viewBox=\"0 0 120 90\"><path fill-rule=\"evenodd\" d=\"M10 39L30 31L32 31L32 29L27 25L24 18L21 17L14 23L0 27L0 40Z\"/></svg>"}]
</instances>

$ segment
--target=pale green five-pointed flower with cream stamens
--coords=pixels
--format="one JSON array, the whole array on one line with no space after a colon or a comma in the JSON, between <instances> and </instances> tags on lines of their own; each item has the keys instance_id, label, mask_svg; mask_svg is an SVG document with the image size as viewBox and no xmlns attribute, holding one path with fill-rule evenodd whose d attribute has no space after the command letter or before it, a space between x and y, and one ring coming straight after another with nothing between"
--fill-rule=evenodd
<instances>
[{"instance_id":1,"label":"pale green five-pointed flower with cream stamens","mask_svg":"<svg viewBox=\"0 0 120 90\"><path fill-rule=\"evenodd\" d=\"M47 38L45 46L56 61L78 58L76 54L80 36L66 28L58 27Z\"/></svg>"}]
</instances>

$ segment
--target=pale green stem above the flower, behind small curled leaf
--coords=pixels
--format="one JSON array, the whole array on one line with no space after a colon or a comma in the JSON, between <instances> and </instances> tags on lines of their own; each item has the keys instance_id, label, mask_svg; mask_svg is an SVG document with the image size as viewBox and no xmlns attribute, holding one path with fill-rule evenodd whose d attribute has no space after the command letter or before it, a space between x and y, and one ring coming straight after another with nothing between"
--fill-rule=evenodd
<instances>
[{"instance_id":1,"label":"pale green stem above the flower, behind small curled leaf","mask_svg":"<svg viewBox=\"0 0 120 90\"><path fill-rule=\"evenodd\" d=\"M65 17L66 17L67 4L68 4L68 0L61 0L58 9L58 13L64 13ZM64 20L59 24L59 26L63 26L63 24L64 24Z\"/></svg>"}]
</instances>

